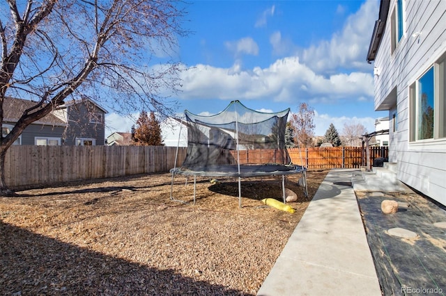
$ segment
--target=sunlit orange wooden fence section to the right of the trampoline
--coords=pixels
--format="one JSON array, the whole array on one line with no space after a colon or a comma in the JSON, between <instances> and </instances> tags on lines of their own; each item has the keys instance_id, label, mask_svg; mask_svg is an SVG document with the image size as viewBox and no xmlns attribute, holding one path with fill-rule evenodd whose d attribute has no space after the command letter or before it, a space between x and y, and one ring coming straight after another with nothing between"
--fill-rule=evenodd
<instances>
[{"instance_id":1,"label":"sunlit orange wooden fence section to the right of the trampoline","mask_svg":"<svg viewBox=\"0 0 446 296\"><path fill-rule=\"evenodd\" d=\"M376 158L388 158L388 147L369 147L370 163ZM366 151L362 147L312 147L288 149L295 165L305 165L309 169L360 168L365 166ZM302 161L301 161L302 157ZM370 168L370 167L369 167Z\"/></svg>"}]
</instances>

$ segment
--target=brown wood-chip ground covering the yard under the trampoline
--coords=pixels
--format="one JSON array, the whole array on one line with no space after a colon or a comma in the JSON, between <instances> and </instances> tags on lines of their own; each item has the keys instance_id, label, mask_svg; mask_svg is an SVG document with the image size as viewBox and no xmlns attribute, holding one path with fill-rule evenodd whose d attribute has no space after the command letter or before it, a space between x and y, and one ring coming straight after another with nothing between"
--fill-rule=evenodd
<instances>
[{"instance_id":1,"label":"brown wood-chip ground covering the yard under the trampoline","mask_svg":"<svg viewBox=\"0 0 446 296\"><path fill-rule=\"evenodd\" d=\"M0 198L1 295L255 295L328 171L307 172L295 213L282 177L192 180L151 174L18 191Z\"/></svg>"}]
</instances>

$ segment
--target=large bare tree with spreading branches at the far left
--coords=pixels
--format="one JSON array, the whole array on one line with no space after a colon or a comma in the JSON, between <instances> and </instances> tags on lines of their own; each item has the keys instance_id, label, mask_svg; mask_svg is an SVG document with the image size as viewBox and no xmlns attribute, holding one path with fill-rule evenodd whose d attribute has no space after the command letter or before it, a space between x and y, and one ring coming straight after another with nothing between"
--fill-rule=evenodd
<instances>
[{"instance_id":1,"label":"large bare tree with spreading branches at the far left","mask_svg":"<svg viewBox=\"0 0 446 296\"><path fill-rule=\"evenodd\" d=\"M18 2L18 3L17 3ZM3 100L36 101L0 138L0 194L13 194L4 178L6 151L22 131L65 99L107 101L113 110L174 112L160 94L178 90L182 67L155 53L176 49L184 3L169 0L4 0L0 4L0 128ZM102 102L101 102L102 104Z\"/></svg>"}]
</instances>

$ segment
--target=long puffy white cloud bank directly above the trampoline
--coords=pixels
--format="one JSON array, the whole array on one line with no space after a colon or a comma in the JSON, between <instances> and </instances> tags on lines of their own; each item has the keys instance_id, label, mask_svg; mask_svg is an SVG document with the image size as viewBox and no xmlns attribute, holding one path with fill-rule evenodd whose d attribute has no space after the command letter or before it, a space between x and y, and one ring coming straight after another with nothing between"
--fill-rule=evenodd
<instances>
[{"instance_id":1,"label":"long puffy white cloud bank directly above the trampoline","mask_svg":"<svg viewBox=\"0 0 446 296\"><path fill-rule=\"evenodd\" d=\"M236 70L235 70L236 69ZM182 74L182 99L273 99L293 101L295 98L320 102L337 99L371 99L374 79L370 73L353 72L322 76L299 58L276 60L269 67L219 68L208 65L190 67Z\"/></svg>"}]
</instances>

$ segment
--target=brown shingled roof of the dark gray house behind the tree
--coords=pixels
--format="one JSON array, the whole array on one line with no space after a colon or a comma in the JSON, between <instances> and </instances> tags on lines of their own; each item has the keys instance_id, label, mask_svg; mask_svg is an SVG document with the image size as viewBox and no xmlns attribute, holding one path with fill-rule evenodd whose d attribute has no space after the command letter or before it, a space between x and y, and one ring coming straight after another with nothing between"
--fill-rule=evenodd
<instances>
[{"instance_id":1,"label":"brown shingled roof of the dark gray house behind the tree","mask_svg":"<svg viewBox=\"0 0 446 296\"><path fill-rule=\"evenodd\" d=\"M36 106L36 104L36 101L5 97L3 100L3 122L17 122L22 117L24 110ZM66 122L52 113L33 122L33 124L66 126Z\"/></svg>"}]
</instances>

